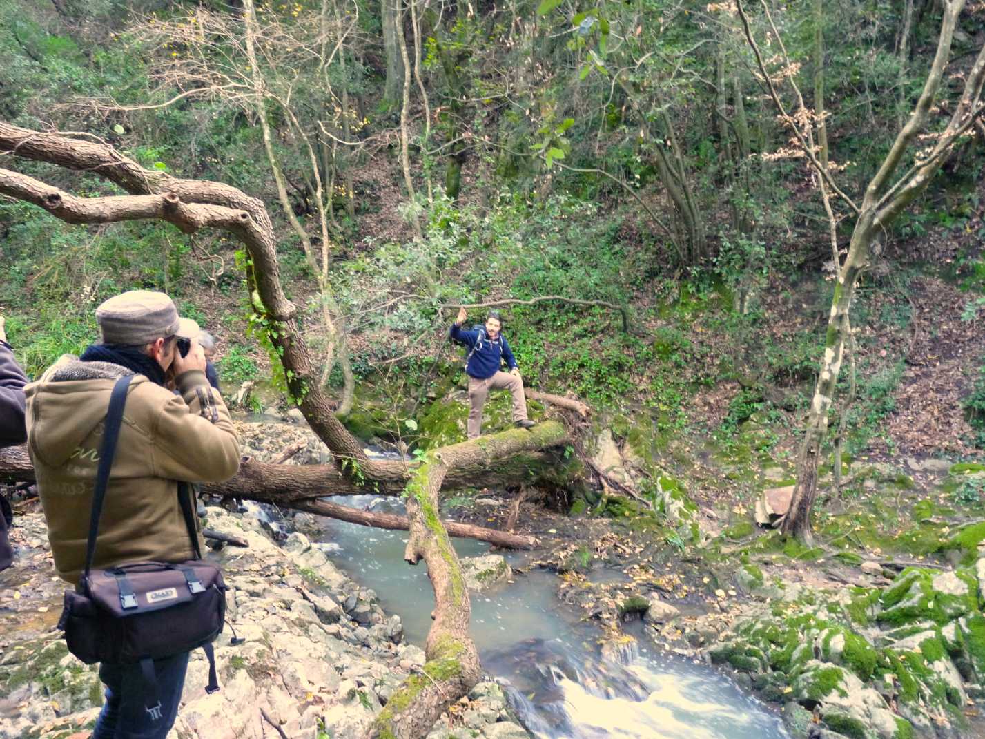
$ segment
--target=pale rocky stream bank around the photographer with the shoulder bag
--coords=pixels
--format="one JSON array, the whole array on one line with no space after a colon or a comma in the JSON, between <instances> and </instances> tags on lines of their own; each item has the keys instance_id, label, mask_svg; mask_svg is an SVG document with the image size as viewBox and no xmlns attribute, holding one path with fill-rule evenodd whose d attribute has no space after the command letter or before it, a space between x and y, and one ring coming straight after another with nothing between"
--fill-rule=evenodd
<instances>
[{"instance_id":1,"label":"pale rocky stream bank around the photographer with the shoulder bag","mask_svg":"<svg viewBox=\"0 0 985 739\"><path fill-rule=\"evenodd\" d=\"M171 739L265 737L275 726L289 737L361 736L396 686L425 661L402 638L375 594L339 571L325 547L292 533L278 546L252 515L206 509L207 525L245 539L248 548L210 553L230 585L230 625L217 642L222 690L205 694L208 663L193 653ZM54 579L43 517L20 515L13 530L14 568L3 573L5 624L0 657L0 737L88 736L101 703L99 678L68 654L52 631L62 584ZM274 725L272 725L274 724ZM453 706L431 739L521 739L503 694L492 682Z\"/></svg>"}]
</instances>

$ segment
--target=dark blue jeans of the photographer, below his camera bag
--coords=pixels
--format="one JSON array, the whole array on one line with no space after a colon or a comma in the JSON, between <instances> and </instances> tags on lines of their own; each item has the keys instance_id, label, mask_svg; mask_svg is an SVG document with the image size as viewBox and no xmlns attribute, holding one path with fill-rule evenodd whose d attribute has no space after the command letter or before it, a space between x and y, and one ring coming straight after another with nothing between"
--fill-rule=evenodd
<instances>
[{"instance_id":1,"label":"dark blue jeans of the photographer, below his camera bag","mask_svg":"<svg viewBox=\"0 0 985 739\"><path fill-rule=\"evenodd\" d=\"M92 739L164 739L178 714L178 702L188 669L188 652L154 660L161 706L147 706L147 685L139 664L99 665L106 686Z\"/></svg>"}]
</instances>

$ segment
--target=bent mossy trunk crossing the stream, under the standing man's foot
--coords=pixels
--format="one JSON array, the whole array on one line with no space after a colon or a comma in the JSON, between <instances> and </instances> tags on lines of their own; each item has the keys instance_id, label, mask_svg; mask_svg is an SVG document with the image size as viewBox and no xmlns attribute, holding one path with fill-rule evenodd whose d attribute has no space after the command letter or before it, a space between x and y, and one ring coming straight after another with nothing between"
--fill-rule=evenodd
<instances>
[{"instance_id":1,"label":"bent mossy trunk crossing the stream, under the standing man's foot","mask_svg":"<svg viewBox=\"0 0 985 739\"><path fill-rule=\"evenodd\" d=\"M424 463L407 485L407 514L411 536L404 559L427 563L434 588L434 623L427 633L427 662L423 675L411 675L390 697L369 727L370 739L425 736L441 713L479 682L479 651L469 636L472 605L458 555L438 517L438 501L447 474L484 460L496 460L528 449L561 443L564 428L549 421L529 431L515 429L474 441L442 446L425 455Z\"/></svg>"}]
</instances>

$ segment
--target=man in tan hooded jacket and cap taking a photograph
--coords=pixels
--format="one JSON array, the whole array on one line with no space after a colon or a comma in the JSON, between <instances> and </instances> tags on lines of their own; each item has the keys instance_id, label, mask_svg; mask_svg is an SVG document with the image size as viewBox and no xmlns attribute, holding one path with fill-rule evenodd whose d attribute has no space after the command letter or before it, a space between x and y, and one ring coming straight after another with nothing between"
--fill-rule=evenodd
<instances>
[{"instance_id":1,"label":"man in tan hooded jacket and cap taking a photograph","mask_svg":"<svg viewBox=\"0 0 985 739\"><path fill-rule=\"evenodd\" d=\"M198 325L180 318L164 293L148 291L110 298L96 320L101 343L79 358L63 356L26 388L28 449L51 554L73 585L86 562L103 421L117 379L136 375L106 486L95 569L195 557L178 482L221 482L239 466L230 414L205 376ZM178 394L164 387L168 370ZM140 664L100 664L105 703L93 739L164 739L187 666L188 652L154 660L160 705L151 710Z\"/></svg>"}]
</instances>

